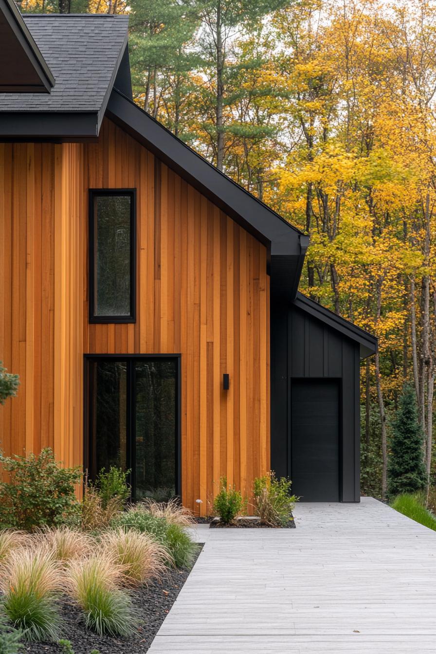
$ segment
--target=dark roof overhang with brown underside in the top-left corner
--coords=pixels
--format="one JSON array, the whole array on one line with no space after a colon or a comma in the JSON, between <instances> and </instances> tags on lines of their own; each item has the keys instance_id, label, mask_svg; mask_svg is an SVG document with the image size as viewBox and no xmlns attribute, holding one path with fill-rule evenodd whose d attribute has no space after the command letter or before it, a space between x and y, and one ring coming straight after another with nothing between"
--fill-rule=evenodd
<instances>
[{"instance_id":1,"label":"dark roof overhang with brown underside in the top-left corner","mask_svg":"<svg viewBox=\"0 0 436 654\"><path fill-rule=\"evenodd\" d=\"M0 0L1 93L49 93L54 77L13 0Z\"/></svg>"}]
</instances>

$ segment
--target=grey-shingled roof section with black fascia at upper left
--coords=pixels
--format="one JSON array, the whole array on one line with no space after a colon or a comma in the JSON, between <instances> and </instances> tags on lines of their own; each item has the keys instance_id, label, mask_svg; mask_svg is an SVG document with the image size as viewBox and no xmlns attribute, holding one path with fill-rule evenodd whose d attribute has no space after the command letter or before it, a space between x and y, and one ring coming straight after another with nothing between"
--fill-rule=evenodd
<instances>
[{"instance_id":1,"label":"grey-shingled roof section with black fascia at upper left","mask_svg":"<svg viewBox=\"0 0 436 654\"><path fill-rule=\"evenodd\" d=\"M0 136L97 136L126 53L128 16L27 14L23 18L56 83L46 95L27 94L24 99L21 94L1 94Z\"/></svg>"}]
</instances>

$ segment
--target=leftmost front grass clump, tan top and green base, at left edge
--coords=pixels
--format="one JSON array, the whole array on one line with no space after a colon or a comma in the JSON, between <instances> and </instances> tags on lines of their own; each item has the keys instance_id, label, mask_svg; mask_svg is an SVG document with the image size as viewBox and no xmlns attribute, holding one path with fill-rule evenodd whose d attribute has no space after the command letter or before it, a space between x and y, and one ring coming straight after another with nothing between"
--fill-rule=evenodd
<instances>
[{"instance_id":1,"label":"leftmost front grass clump, tan top and green base, at left edge","mask_svg":"<svg viewBox=\"0 0 436 654\"><path fill-rule=\"evenodd\" d=\"M61 618L56 596L62 587L58 563L46 549L10 552L0 575L3 611L25 640L57 640Z\"/></svg>"}]
</instances>

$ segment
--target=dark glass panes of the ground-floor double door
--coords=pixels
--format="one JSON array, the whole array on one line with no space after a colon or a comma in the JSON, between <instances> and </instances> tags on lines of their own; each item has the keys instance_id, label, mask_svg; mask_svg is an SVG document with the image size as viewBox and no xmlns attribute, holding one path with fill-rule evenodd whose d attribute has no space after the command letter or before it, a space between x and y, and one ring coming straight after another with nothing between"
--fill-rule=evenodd
<instances>
[{"instance_id":1,"label":"dark glass panes of the ground-floor double door","mask_svg":"<svg viewBox=\"0 0 436 654\"><path fill-rule=\"evenodd\" d=\"M176 357L88 357L86 466L130 470L133 500L179 494Z\"/></svg>"}]
</instances>

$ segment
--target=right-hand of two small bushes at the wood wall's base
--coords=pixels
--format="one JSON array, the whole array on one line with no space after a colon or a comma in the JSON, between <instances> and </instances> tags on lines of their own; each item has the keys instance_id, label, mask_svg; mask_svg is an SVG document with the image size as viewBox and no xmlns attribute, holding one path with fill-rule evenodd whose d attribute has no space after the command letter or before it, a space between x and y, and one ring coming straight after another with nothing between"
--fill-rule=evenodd
<instances>
[{"instance_id":1,"label":"right-hand of two small bushes at the wood wall's base","mask_svg":"<svg viewBox=\"0 0 436 654\"><path fill-rule=\"evenodd\" d=\"M288 523L297 502L295 495L291 494L291 486L289 479L277 479L273 472L254 479L255 509L261 525L282 526Z\"/></svg>"}]
</instances>

